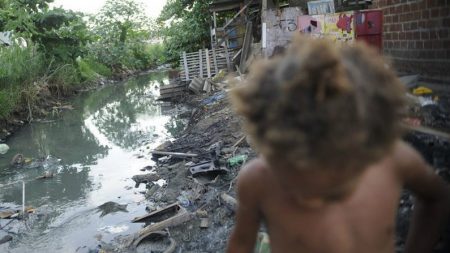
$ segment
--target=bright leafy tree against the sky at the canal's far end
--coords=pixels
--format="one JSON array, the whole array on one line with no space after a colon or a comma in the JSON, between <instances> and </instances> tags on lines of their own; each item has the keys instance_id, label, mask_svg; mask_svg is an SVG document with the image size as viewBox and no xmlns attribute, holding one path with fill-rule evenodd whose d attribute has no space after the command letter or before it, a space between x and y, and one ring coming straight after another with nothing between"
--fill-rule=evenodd
<instances>
[{"instance_id":1,"label":"bright leafy tree against the sky at the canal's far end","mask_svg":"<svg viewBox=\"0 0 450 253\"><path fill-rule=\"evenodd\" d=\"M93 19L96 42L90 52L115 72L153 65L146 48L154 22L143 9L135 0L108 0Z\"/></svg>"}]
</instances>

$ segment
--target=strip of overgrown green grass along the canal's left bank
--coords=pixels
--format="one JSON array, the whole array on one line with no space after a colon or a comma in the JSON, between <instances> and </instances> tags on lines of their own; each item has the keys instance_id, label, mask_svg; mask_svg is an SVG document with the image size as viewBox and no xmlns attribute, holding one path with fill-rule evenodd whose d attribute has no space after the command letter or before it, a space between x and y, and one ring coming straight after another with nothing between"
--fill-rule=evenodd
<instances>
[{"instance_id":1,"label":"strip of overgrown green grass along the canal's left bank","mask_svg":"<svg viewBox=\"0 0 450 253\"><path fill-rule=\"evenodd\" d=\"M95 48L100 51L71 62L48 59L36 46L0 46L0 120L15 111L28 111L49 96L65 96L121 69L148 69L165 62L161 44L132 44L130 47ZM108 54L109 53L109 54ZM120 73L119 73L120 74ZM45 101L44 101L45 102Z\"/></svg>"}]
</instances>

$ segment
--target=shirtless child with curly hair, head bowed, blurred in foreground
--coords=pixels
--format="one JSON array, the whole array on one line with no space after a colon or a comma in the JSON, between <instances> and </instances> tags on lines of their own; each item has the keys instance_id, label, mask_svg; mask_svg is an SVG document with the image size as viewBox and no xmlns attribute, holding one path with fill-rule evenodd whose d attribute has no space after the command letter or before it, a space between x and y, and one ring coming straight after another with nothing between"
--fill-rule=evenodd
<instances>
[{"instance_id":1,"label":"shirtless child with curly hair, head bowed, blurred in foreground","mask_svg":"<svg viewBox=\"0 0 450 253\"><path fill-rule=\"evenodd\" d=\"M402 187L416 196L405 252L431 252L450 213L449 186L400 139L404 90L381 56L296 38L232 95L261 157L238 178L229 253L395 252Z\"/></svg>"}]
</instances>

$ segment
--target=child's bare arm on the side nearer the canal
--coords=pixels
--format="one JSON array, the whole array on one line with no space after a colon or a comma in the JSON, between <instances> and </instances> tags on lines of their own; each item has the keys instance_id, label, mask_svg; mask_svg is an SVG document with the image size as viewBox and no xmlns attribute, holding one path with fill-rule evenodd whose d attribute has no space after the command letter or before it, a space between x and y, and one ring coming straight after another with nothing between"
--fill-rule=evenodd
<instances>
[{"instance_id":1,"label":"child's bare arm on the side nearer the canal","mask_svg":"<svg viewBox=\"0 0 450 253\"><path fill-rule=\"evenodd\" d=\"M253 252L259 229L261 214L259 211L260 192L257 178L257 165L253 162L239 173L237 182L238 209L236 225L228 242L228 253Z\"/></svg>"}]
</instances>

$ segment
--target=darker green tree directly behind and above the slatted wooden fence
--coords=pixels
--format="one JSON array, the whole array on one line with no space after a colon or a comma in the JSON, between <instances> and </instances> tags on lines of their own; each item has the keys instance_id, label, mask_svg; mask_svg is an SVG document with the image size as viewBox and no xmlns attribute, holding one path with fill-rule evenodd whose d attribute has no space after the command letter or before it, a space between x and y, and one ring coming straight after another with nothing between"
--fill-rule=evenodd
<instances>
[{"instance_id":1,"label":"darker green tree directly behind and above the slatted wooden fence","mask_svg":"<svg viewBox=\"0 0 450 253\"><path fill-rule=\"evenodd\" d=\"M197 51L210 43L211 0L169 0L158 23L167 58L177 62L182 51ZM166 25L166 23L169 23Z\"/></svg>"}]
</instances>

